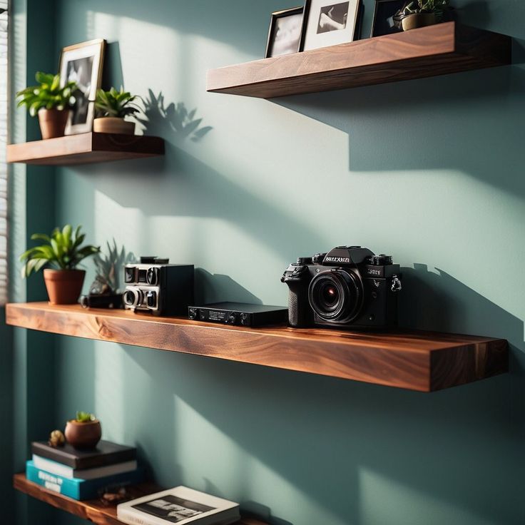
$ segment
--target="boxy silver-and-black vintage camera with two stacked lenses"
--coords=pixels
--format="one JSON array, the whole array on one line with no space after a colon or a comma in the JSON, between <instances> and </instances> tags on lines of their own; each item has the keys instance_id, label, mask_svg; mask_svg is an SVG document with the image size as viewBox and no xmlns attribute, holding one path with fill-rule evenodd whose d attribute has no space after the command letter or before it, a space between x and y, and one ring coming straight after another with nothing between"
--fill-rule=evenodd
<instances>
[{"instance_id":1,"label":"boxy silver-and-black vintage camera with two stacked lenses","mask_svg":"<svg viewBox=\"0 0 525 525\"><path fill-rule=\"evenodd\" d=\"M185 315L193 304L193 265L170 265L169 259L141 257L124 266L126 310L153 315Z\"/></svg>"}]
</instances>

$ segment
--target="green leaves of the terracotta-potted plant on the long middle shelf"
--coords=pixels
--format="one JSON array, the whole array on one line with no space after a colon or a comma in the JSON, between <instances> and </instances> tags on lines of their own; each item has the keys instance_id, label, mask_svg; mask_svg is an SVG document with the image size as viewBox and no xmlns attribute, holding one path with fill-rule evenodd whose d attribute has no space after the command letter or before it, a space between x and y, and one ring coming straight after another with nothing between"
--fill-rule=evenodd
<instances>
[{"instance_id":1,"label":"green leaves of the terracotta-potted plant on the long middle shelf","mask_svg":"<svg viewBox=\"0 0 525 525\"><path fill-rule=\"evenodd\" d=\"M22 277L29 277L46 265L57 270L75 270L83 259L100 252L98 246L81 246L86 238L81 228L78 226L73 231L71 225L67 224L62 230L55 228L51 236L44 233L31 235L31 240L44 240L45 244L29 248L20 256L20 260L25 261Z\"/></svg>"}]
</instances>

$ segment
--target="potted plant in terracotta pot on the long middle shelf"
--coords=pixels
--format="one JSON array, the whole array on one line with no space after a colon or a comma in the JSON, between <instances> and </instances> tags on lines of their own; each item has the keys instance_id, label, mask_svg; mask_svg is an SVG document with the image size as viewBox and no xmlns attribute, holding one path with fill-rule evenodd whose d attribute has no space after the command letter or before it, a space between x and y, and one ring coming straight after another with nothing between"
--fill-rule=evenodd
<instances>
[{"instance_id":1,"label":"potted plant in terracotta pot on the long middle shelf","mask_svg":"<svg viewBox=\"0 0 525 525\"><path fill-rule=\"evenodd\" d=\"M83 259L100 251L97 246L81 244L86 235L81 233L81 226L73 231L71 225L60 230L55 228L51 237L43 233L31 235L31 240L44 240L45 243L29 248L20 256L24 261L22 277L29 277L46 265L44 281L51 305L71 305L78 300L86 272L77 266Z\"/></svg>"}]
</instances>

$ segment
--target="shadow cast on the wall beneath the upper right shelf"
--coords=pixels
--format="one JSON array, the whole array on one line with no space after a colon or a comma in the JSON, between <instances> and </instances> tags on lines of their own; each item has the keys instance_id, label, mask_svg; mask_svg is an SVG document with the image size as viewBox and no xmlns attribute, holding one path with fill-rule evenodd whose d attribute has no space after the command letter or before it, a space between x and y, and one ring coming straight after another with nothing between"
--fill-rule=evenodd
<instances>
[{"instance_id":1,"label":"shadow cast on the wall beneath the upper right shelf","mask_svg":"<svg viewBox=\"0 0 525 525\"><path fill-rule=\"evenodd\" d=\"M523 198L524 90L503 66L273 101L348 133L350 170L461 170Z\"/></svg>"}]
</instances>

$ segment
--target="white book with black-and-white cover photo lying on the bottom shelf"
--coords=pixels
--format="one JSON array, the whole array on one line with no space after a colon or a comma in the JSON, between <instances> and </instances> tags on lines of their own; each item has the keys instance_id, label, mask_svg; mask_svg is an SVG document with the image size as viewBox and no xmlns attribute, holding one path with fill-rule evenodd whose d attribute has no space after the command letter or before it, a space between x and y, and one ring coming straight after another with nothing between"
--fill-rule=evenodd
<instances>
[{"instance_id":1,"label":"white book with black-and-white cover photo lying on the bottom shelf","mask_svg":"<svg viewBox=\"0 0 525 525\"><path fill-rule=\"evenodd\" d=\"M117 505L117 518L130 525L227 525L240 514L233 501L175 486Z\"/></svg>"}]
</instances>

